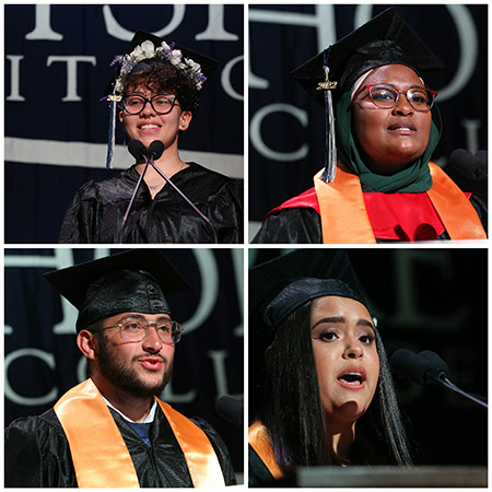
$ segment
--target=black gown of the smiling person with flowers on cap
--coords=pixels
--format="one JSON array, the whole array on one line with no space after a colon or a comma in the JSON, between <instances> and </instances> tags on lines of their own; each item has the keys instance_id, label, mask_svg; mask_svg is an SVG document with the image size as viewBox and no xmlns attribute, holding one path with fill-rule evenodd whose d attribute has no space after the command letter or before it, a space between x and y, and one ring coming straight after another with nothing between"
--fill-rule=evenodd
<instances>
[{"instance_id":1,"label":"black gown of the smiling person with flowers on cap","mask_svg":"<svg viewBox=\"0 0 492 492\"><path fill-rule=\"evenodd\" d=\"M243 181L231 179L197 163L172 177L172 181L213 224L216 242L243 243ZM71 244L200 244L214 243L211 226L172 185L152 199L140 184L125 230L120 224L139 179L134 167L113 179L87 181L66 212L59 242Z\"/></svg>"}]
</instances>

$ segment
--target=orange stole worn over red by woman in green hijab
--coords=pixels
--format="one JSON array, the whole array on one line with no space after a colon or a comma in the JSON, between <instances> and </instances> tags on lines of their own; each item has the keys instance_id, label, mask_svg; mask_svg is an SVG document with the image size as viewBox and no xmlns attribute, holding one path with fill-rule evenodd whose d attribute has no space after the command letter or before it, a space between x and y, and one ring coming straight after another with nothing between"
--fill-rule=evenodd
<instances>
[{"instance_id":1,"label":"orange stole worn over red by woman in green hijab","mask_svg":"<svg viewBox=\"0 0 492 492\"><path fill-rule=\"evenodd\" d=\"M456 184L433 163L429 163L432 188L427 196L452 239L485 239L485 232L473 206ZM365 209L359 177L340 162L333 183L314 177L321 212L324 244L374 244L373 229Z\"/></svg>"}]
</instances>

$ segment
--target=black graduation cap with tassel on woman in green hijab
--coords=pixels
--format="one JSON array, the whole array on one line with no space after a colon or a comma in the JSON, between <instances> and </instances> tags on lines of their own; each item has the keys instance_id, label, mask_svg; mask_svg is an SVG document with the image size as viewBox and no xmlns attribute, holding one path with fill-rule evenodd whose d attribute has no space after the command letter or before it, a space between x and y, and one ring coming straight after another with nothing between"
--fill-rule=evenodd
<instances>
[{"instance_id":1,"label":"black graduation cap with tassel on woman in green hijab","mask_svg":"<svg viewBox=\"0 0 492 492\"><path fill-rule=\"evenodd\" d=\"M364 73L386 65L405 65L419 77L443 65L390 8L295 69L292 77L325 105L326 156L321 179L335 179L337 151L333 104Z\"/></svg>"}]
</instances>

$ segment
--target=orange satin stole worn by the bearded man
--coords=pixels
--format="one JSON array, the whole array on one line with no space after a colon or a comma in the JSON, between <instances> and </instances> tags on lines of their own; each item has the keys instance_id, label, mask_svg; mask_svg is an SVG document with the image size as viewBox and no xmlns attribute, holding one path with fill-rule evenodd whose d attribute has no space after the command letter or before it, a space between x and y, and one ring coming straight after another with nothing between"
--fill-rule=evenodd
<instances>
[{"instance_id":1,"label":"orange satin stole worn by the bearded man","mask_svg":"<svg viewBox=\"0 0 492 492\"><path fill-rule=\"evenodd\" d=\"M157 399L185 453L195 487L224 487L224 478L204 432ZM70 445L79 488L139 488L124 438L91 379L66 393L55 405Z\"/></svg>"}]
</instances>

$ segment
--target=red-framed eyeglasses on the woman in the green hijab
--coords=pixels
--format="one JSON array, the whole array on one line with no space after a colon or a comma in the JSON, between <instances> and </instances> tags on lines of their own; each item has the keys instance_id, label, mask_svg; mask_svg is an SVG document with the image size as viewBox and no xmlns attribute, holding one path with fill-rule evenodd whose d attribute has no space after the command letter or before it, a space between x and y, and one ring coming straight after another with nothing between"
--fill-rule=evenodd
<instances>
[{"instance_id":1,"label":"red-framed eyeglasses on the woman in the green hijab","mask_svg":"<svg viewBox=\"0 0 492 492\"><path fill-rule=\"evenodd\" d=\"M385 85L366 85L371 101L383 109L390 109L398 103L400 94L403 94L415 112L426 113L434 105L437 92L425 87L412 87L408 91L398 91L397 89Z\"/></svg>"}]
</instances>

